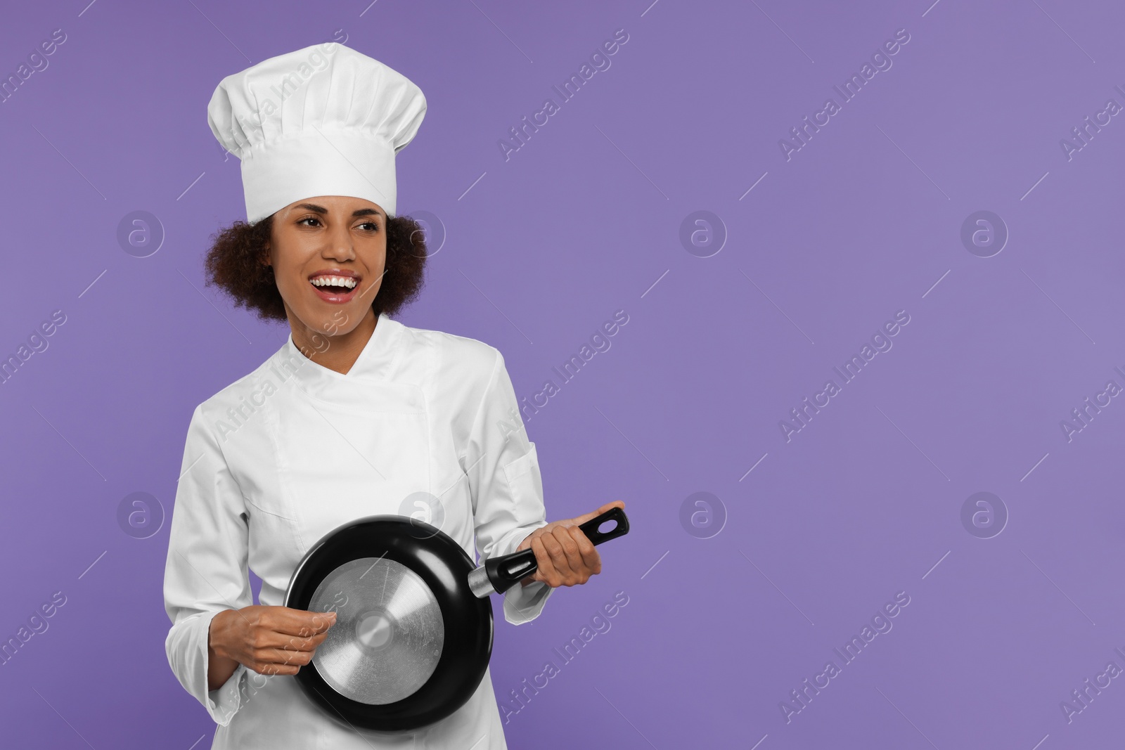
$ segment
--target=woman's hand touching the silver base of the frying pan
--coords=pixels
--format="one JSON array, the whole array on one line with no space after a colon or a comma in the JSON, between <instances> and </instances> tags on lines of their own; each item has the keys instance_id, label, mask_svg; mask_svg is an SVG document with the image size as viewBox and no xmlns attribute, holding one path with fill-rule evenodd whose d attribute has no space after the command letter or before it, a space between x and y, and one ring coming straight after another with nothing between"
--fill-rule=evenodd
<instances>
[{"instance_id":1,"label":"woman's hand touching the silver base of the frying pan","mask_svg":"<svg viewBox=\"0 0 1125 750\"><path fill-rule=\"evenodd\" d=\"M208 631L208 689L219 687L238 665L260 675L296 675L336 622L335 612L253 605L225 609Z\"/></svg>"}]
</instances>

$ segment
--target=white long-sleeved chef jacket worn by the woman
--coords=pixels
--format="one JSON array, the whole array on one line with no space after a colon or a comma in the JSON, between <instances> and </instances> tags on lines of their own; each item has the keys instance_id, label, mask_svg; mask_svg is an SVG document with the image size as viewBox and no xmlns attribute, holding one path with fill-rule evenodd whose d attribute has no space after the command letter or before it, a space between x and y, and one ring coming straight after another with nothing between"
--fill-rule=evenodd
<instances>
[{"instance_id":1,"label":"white long-sleeved chef jacket worn by the woman","mask_svg":"<svg viewBox=\"0 0 1125 750\"><path fill-rule=\"evenodd\" d=\"M196 407L188 426L164 570L168 661L218 724L212 748L502 750L492 678L436 724L398 735L340 723L288 675L240 665L207 689L212 617L281 606L292 571L322 536L356 518L440 498L441 530L476 559L515 551L546 525L534 443L501 353L483 342L380 315L346 374L285 345ZM415 496L418 497L418 496ZM423 496L424 497L424 496ZM537 617L541 581L504 596L504 617ZM309 665L303 669L313 669Z\"/></svg>"}]
</instances>

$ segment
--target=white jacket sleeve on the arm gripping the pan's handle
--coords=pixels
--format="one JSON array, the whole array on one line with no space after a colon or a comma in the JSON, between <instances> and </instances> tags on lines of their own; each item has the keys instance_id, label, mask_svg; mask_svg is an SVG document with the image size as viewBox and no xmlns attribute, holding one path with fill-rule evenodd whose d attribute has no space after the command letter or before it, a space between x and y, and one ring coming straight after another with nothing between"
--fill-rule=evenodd
<instances>
[{"instance_id":1,"label":"white jacket sleeve on the arm gripping the pan's handle","mask_svg":"<svg viewBox=\"0 0 1125 750\"><path fill-rule=\"evenodd\" d=\"M465 455L482 560L514 552L547 525L536 444L528 440L504 358L494 351ZM554 590L542 581L513 586L504 594L504 618L516 625L534 620Z\"/></svg>"}]
</instances>

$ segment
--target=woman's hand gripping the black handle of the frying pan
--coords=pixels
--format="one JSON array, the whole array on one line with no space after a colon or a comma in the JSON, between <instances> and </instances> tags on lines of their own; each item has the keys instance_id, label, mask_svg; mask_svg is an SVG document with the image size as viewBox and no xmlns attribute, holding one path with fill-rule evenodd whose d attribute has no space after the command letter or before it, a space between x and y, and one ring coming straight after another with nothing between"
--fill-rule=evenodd
<instances>
[{"instance_id":1,"label":"woman's hand gripping the black handle of the frying pan","mask_svg":"<svg viewBox=\"0 0 1125 750\"><path fill-rule=\"evenodd\" d=\"M521 584L541 580L551 588L559 586L577 586L590 580L591 576L602 572L602 558L597 548L578 526L595 518L610 508L624 508L626 504L614 500L597 508L593 513L566 521L552 521L542 528L531 532L520 542L516 551L529 546L536 553L539 569L524 578Z\"/></svg>"}]
</instances>

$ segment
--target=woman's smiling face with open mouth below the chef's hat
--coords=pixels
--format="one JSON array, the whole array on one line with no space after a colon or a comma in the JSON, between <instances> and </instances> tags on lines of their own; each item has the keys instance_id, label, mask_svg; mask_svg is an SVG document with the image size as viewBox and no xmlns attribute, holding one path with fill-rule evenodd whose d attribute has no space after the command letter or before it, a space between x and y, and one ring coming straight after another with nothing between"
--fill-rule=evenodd
<instances>
[{"instance_id":1,"label":"woman's smiling face with open mouth below the chef's hat","mask_svg":"<svg viewBox=\"0 0 1125 750\"><path fill-rule=\"evenodd\" d=\"M273 215L267 249L298 342L350 333L375 315L387 260L387 215L378 205L343 196L289 204Z\"/></svg>"}]
</instances>

